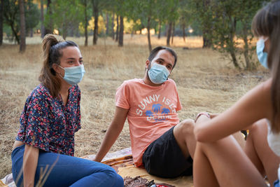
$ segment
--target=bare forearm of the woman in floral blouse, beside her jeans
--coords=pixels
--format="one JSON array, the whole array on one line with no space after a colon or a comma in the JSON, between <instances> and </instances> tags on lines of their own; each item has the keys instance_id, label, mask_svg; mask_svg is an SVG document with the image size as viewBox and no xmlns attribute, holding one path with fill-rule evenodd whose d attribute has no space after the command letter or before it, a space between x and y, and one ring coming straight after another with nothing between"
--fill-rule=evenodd
<instances>
[{"instance_id":1,"label":"bare forearm of the woman in floral blouse, beside her jeans","mask_svg":"<svg viewBox=\"0 0 280 187\"><path fill-rule=\"evenodd\" d=\"M34 186L36 167L38 164L39 149L25 144L23 155L23 182L24 186Z\"/></svg>"}]
</instances>

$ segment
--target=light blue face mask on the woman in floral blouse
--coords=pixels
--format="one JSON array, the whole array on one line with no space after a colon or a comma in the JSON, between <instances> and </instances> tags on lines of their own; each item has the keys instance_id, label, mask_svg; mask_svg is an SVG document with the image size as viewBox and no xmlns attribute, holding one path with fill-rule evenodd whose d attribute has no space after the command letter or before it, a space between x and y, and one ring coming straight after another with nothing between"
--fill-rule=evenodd
<instances>
[{"instance_id":1,"label":"light blue face mask on the woman in floral blouse","mask_svg":"<svg viewBox=\"0 0 280 187\"><path fill-rule=\"evenodd\" d=\"M70 85L76 85L80 83L80 81L82 81L83 79L83 75L85 74L85 68L83 67L83 64L76 67L61 67L61 68L64 69L64 77L62 78Z\"/></svg>"}]
</instances>

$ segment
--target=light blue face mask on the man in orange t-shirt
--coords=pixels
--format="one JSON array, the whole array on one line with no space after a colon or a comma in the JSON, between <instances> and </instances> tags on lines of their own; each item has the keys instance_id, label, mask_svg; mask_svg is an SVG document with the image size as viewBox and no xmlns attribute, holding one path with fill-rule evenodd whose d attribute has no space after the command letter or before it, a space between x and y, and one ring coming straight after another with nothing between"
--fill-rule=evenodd
<instances>
[{"instance_id":1,"label":"light blue face mask on the man in orange t-shirt","mask_svg":"<svg viewBox=\"0 0 280 187\"><path fill-rule=\"evenodd\" d=\"M151 69L148 70L148 76L152 83L154 84L161 84L167 81L170 72L165 66L160 64L153 64Z\"/></svg>"}]
</instances>

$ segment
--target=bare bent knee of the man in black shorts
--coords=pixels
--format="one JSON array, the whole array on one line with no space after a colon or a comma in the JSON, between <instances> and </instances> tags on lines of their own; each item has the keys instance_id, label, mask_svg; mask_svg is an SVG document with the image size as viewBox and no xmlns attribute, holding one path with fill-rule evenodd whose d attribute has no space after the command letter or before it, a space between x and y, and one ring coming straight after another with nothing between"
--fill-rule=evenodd
<instances>
[{"instance_id":1,"label":"bare bent knee of the man in black shorts","mask_svg":"<svg viewBox=\"0 0 280 187\"><path fill-rule=\"evenodd\" d=\"M194 120L183 120L173 130L174 137L186 158L195 155L196 139L193 134Z\"/></svg>"}]
</instances>

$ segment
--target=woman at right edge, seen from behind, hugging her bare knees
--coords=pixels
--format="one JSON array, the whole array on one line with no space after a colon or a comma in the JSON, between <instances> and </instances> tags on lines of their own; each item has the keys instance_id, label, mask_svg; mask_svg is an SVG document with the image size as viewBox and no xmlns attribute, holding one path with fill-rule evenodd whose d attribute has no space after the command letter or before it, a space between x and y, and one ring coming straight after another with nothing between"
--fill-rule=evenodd
<instances>
[{"instance_id":1,"label":"woman at right edge, seen from behind, hugging her bare knees","mask_svg":"<svg viewBox=\"0 0 280 187\"><path fill-rule=\"evenodd\" d=\"M195 125L195 186L270 186L280 179L280 1L256 13L252 30L256 51L271 78L246 93L230 109ZM252 125L253 124L253 125ZM249 129L245 151L230 136Z\"/></svg>"}]
</instances>

